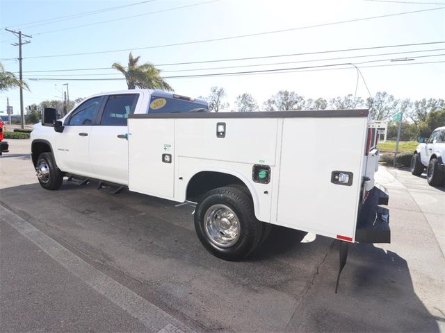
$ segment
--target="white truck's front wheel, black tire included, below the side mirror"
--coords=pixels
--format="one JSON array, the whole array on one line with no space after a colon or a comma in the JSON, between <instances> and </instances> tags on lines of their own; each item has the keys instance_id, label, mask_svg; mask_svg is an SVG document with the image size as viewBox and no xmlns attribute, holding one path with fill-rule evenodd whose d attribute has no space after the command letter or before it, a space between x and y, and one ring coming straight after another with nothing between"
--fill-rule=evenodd
<instances>
[{"instance_id":1,"label":"white truck's front wheel, black tire included, below the side mirror","mask_svg":"<svg viewBox=\"0 0 445 333\"><path fill-rule=\"evenodd\" d=\"M35 165L40 185L44 189L60 189L63 182L63 172L58 169L52 153L41 153Z\"/></svg>"}]
</instances>

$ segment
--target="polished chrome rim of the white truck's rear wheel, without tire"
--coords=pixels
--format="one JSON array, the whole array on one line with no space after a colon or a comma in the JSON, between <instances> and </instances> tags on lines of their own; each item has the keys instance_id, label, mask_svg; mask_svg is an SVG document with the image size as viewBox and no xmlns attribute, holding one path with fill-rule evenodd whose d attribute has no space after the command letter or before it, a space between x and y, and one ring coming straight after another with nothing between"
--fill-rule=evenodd
<instances>
[{"instance_id":1,"label":"polished chrome rim of the white truck's rear wheel, without tire","mask_svg":"<svg viewBox=\"0 0 445 333\"><path fill-rule=\"evenodd\" d=\"M231 208L213 205L204 214L204 230L213 244L228 248L238 241L241 225Z\"/></svg>"}]
</instances>

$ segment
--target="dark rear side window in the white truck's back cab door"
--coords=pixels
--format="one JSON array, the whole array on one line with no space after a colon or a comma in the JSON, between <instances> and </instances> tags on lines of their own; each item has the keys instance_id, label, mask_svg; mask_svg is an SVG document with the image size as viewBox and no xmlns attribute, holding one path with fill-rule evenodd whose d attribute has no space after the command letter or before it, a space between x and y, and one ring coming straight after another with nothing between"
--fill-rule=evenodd
<instances>
[{"instance_id":1,"label":"dark rear side window in the white truck's back cab door","mask_svg":"<svg viewBox=\"0 0 445 333\"><path fill-rule=\"evenodd\" d=\"M127 126L129 114L133 114L138 103L139 94L122 94L108 96L102 114L102 126Z\"/></svg>"}]
</instances>

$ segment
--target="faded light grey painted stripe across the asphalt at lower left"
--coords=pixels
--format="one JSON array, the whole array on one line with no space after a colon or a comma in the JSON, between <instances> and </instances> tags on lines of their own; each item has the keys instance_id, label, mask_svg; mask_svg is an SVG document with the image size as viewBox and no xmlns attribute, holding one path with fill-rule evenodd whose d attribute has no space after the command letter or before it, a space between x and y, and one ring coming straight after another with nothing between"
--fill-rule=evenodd
<instances>
[{"instance_id":1,"label":"faded light grey painted stripe across the asphalt at lower left","mask_svg":"<svg viewBox=\"0 0 445 333\"><path fill-rule=\"evenodd\" d=\"M156 307L152 303L138 296L127 287L113 280L108 275L92 267L77 257L67 248L58 244L46 234L33 227L21 217L0 205L0 219L11 225L20 234L32 241L47 253L58 264L67 268L92 289L111 300L115 305L137 318L151 332L195 332L191 327L177 321L177 319Z\"/></svg>"}]
</instances>

